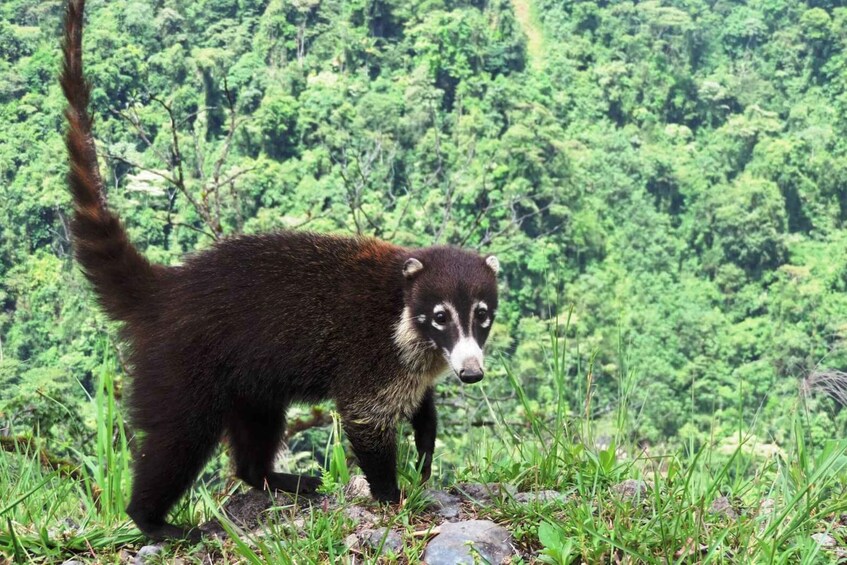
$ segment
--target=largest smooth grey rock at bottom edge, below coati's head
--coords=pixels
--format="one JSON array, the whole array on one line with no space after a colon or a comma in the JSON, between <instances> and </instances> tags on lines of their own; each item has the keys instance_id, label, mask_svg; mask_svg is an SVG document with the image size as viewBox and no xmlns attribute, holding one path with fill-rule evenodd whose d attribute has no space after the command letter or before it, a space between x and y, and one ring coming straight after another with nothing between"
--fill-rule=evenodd
<instances>
[{"instance_id":1,"label":"largest smooth grey rock at bottom edge, below coati's head","mask_svg":"<svg viewBox=\"0 0 847 565\"><path fill-rule=\"evenodd\" d=\"M509 531L488 520L446 522L440 530L424 552L428 565L473 565L480 557L496 565L513 554Z\"/></svg>"}]
</instances>

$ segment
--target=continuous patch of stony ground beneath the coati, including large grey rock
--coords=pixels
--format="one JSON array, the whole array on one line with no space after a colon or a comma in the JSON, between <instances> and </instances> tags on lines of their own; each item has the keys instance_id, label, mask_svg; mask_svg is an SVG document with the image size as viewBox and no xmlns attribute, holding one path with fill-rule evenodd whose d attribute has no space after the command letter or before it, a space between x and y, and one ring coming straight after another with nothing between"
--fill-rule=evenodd
<instances>
[{"instance_id":1,"label":"continuous patch of stony ground beneath the coati, including large grey rock","mask_svg":"<svg viewBox=\"0 0 847 565\"><path fill-rule=\"evenodd\" d=\"M227 518L243 532L247 538L269 535L265 517L273 507L294 507L290 514L293 527L302 529L309 512L320 509L324 512L344 512L352 521L354 531L345 539L350 554L350 562L361 562L364 558L380 556L398 556L408 537L426 540L425 551L421 558L429 565L453 565L457 563L509 563L522 555L513 543L510 532L494 522L480 519L479 511L491 505L496 499L510 497L517 503L555 502L565 497L556 491L518 492L511 486L498 484L464 483L450 490L427 490L424 492L424 510L420 513L420 523L414 532L409 533L398 527L386 526L386 514L381 508L369 501L367 482L364 477L355 476L345 489L344 500L338 497L317 495L294 499L283 493L269 496L268 493L250 490L232 496L224 506ZM352 502L351 502L352 501ZM218 520L202 524L201 529L211 537L221 540L227 534ZM301 532L305 535L305 531ZM124 549L120 553L122 563L151 565L153 563L217 563L213 549L200 554L194 552L189 558L182 557L178 551L163 544L145 545L136 550ZM400 562L403 562L400 559ZM81 561L69 560L63 565L81 565Z\"/></svg>"}]
</instances>

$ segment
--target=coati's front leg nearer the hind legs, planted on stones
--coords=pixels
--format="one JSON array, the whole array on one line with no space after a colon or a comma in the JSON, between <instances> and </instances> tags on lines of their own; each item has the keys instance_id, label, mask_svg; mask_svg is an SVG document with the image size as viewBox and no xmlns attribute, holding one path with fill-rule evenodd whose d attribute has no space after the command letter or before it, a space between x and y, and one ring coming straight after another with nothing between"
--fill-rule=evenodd
<instances>
[{"instance_id":1,"label":"coati's front leg nearer the hind legs, planted on stones","mask_svg":"<svg viewBox=\"0 0 847 565\"><path fill-rule=\"evenodd\" d=\"M400 502L395 426L352 415L344 416L343 423L359 467L368 479L371 495L380 502Z\"/></svg>"}]
</instances>

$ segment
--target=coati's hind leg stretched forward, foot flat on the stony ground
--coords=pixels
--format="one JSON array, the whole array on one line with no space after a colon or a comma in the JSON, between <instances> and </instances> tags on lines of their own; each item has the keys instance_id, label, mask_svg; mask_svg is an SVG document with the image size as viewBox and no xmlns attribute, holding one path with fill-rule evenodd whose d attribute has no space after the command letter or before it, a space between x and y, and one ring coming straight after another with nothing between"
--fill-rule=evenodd
<instances>
[{"instance_id":1,"label":"coati's hind leg stretched forward, foot flat on the stony ground","mask_svg":"<svg viewBox=\"0 0 847 565\"><path fill-rule=\"evenodd\" d=\"M321 486L319 477L277 473L274 459L285 431L285 408L240 403L229 421L229 439L238 477L259 490L309 494Z\"/></svg>"}]
</instances>

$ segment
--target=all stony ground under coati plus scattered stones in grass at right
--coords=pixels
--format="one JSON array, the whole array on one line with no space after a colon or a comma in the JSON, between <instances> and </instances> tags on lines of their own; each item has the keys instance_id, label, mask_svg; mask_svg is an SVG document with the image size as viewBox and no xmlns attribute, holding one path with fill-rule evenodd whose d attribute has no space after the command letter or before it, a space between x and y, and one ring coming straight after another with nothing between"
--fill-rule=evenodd
<instances>
[{"instance_id":1,"label":"all stony ground under coati plus scattered stones in grass at right","mask_svg":"<svg viewBox=\"0 0 847 565\"><path fill-rule=\"evenodd\" d=\"M650 488L639 480L626 480L609 489L620 503L637 507L649 504ZM493 507L503 504L532 505L535 508L555 508L567 504L569 497L553 490L519 492L511 485L497 483L460 483L448 490L426 490L415 511L414 523L397 524L396 512L373 503L364 477L354 476L345 487L343 496L314 495L292 497L279 493L250 490L231 496L223 506L230 528L239 530L242 540L267 539L273 534L270 520L286 520L286 528L294 528L298 537L305 539L306 529L315 513L343 513L349 524L350 533L344 539L346 556L344 563L364 562L418 563L428 565L455 565L460 563L533 563L538 553L516 540L512 533L486 517ZM274 513L284 508L284 516ZM744 510L727 497L719 497L708 508L711 519L735 521ZM767 504L755 510L757 514L769 512ZM271 518L273 516L273 518ZM513 524L514 526L514 524ZM231 543L223 525L218 520L203 523L200 528L211 539L218 542L205 543L184 554L179 546L163 544L145 545L140 548L123 549L119 561L133 565L156 563L230 563L221 551L220 544ZM298 539L298 538L295 538ZM680 548L675 557L693 557L705 551L696 547ZM834 562L847 560L847 549L842 548L829 534L812 536L822 551ZM252 543L248 541L247 543ZM404 549L410 545L421 547L419 559L412 560ZM69 560L63 565L82 565L82 561Z\"/></svg>"}]
</instances>

